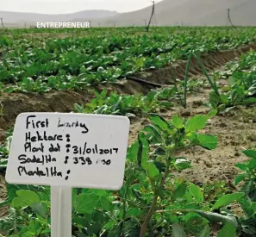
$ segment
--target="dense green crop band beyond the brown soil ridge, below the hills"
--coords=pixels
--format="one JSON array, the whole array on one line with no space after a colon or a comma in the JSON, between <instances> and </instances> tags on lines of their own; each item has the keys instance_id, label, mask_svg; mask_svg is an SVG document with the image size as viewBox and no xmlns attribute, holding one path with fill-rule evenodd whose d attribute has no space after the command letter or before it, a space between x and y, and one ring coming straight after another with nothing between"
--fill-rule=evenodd
<instances>
[{"instance_id":1,"label":"dense green crop band beyond the brown soil ridge, below the hills","mask_svg":"<svg viewBox=\"0 0 256 237\"><path fill-rule=\"evenodd\" d=\"M156 34L125 33L120 29L111 36L104 31L99 34L97 30L97 34L90 32L88 37L65 39L15 40L2 36L0 83L5 91L34 92L115 83L117 79L188 59L192 48L209 53L256 40L252 28L238 31L197 28L177 32L159 28Z\"/></svg>"}]
</instances>

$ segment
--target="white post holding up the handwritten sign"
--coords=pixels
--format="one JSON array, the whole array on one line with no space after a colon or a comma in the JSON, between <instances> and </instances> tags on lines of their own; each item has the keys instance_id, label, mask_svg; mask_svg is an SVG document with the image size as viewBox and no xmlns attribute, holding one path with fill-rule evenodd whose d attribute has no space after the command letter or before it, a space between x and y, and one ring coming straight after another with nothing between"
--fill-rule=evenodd
<instances>
[{"instance_id":1,"label":"white post holding up the handwritten sign","mask_svg":"<svg viewBox=\"0 0 256 237\"><path fill-rule=\"evenodd\" d=\"M72 188L51 186L51 237L72 236Z\"/></svg>"}]
</instances>

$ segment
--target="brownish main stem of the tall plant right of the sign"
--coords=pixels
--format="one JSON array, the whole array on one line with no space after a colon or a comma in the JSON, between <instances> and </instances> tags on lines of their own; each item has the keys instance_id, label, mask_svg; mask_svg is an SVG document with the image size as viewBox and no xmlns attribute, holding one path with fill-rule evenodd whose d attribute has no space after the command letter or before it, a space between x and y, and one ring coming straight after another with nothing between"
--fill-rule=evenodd
<instances>
[{"instance_id":1,"label":"brownish main stem of the tall plant right of the sign","mask_svg":"<svg viewBox=\"0 0 256 237\"><path fill-rule=\"evenodd\" d=\"M160 185L159 185L160 188L165 184L165 179L167 178L167 175L169 173L169 165L170 165L170 161L168 159L167 162L166 162L166 168L165 168L164 176L162 177L162 180L161 180ZM151 219L151 216L153 215L153 212L155 212L155 205L157 203L158 197L159 197L158 191L155 189L150 209L148 210L147 216L146 216L145 220L143 221L143 223L141 225L141 228L140 228L140 237L144 237L145 234L146 234L147 225L148 225L148 222Z\"/></svg>"}]
</instances>

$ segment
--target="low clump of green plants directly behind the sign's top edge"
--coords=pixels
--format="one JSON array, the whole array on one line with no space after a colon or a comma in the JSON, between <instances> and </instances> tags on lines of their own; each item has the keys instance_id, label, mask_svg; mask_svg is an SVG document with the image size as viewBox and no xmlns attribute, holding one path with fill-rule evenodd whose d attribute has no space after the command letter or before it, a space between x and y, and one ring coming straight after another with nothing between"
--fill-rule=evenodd
<instances>
[{"instance_id":1,"label":"low clump of green plants directly behind the sign's top edge","mask_svg":"<svg viewBox=\"0 0 256 237\"><path fill-rule=\"evenodd\" d=\"M173 88L163 90L152 90L146 96L136 95L119 95L117 92L103 90L97 91L95 98L84 106L75 104L75 112L87 114L104 114L104 115L147 115L149 112L159 112L161 109L172 107L170 98L175 96Z\"/></svg>"}]
</instances>

